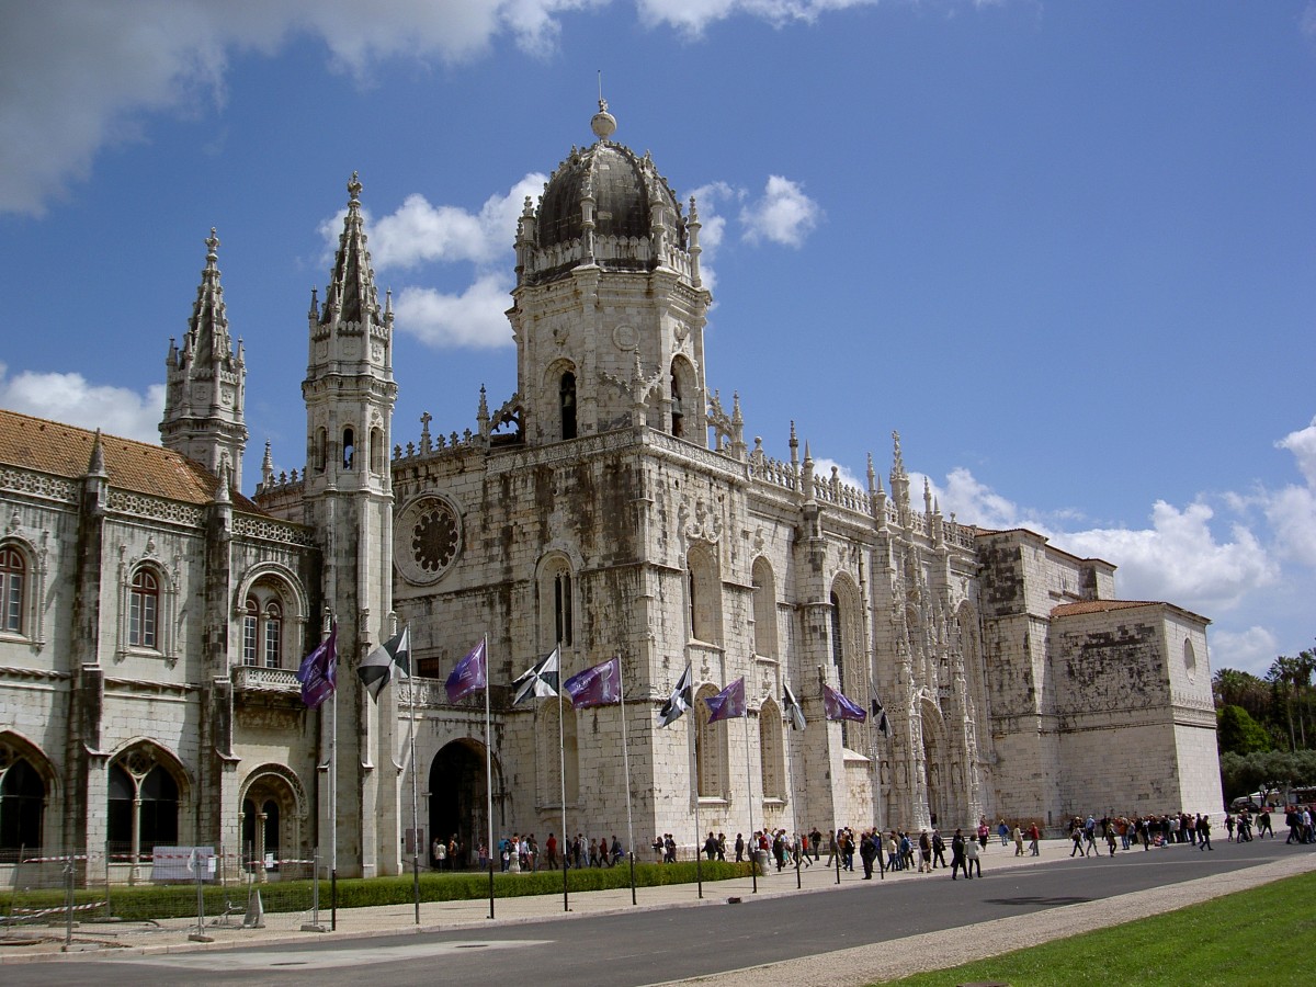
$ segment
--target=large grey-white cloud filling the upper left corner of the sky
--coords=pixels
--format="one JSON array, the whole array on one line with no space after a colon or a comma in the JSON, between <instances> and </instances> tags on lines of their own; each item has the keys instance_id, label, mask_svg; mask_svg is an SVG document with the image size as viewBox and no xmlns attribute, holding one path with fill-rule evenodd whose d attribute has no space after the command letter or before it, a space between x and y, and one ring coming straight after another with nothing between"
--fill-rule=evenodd
<instances>
[{"instance_id":1,"label":"large grey-white cloud filling the upper left corner of the sky","mask_svg":"<svg viewBox=\"0 0 1316 987\"><path fill-rule=\"evenodd\" d=\"M153 113L222 103L229 55L272 54L296 33L330 67L365 78L386 58L461 63L503 33L555 45L555 14L592 0L42 0L4 8L0 30L0 212L41 215L105 146L141 139Z\"/></svg>"}]
</instances>

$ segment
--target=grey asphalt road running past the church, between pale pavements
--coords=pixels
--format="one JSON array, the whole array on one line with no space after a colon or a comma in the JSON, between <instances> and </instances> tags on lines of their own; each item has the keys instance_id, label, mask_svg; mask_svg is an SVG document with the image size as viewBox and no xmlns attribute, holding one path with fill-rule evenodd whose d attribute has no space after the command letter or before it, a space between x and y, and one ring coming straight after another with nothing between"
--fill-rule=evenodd
<instances>
[{"instance_id":1,"label":"grey asphalt road running past the church, between pale pavements","mask_svg":"<svg viewBox=\"0 0 1316 987\"><path fill-rule=\"evenodd\" d=\"M738 970L916 933L1030 915L1274 861L1309 848L1280 841L1119 853L1041 867L984 867L982 880L946 871L920 880L854 883L829 891L637 911L503 928L299 941L171 955L61 957L7 965L12 984L432 984L533 983L534 987L636 987ZM716 886L713 886L716 888ZM492 933L492 934L491 934Z\"/></svg>"}]
</instances>

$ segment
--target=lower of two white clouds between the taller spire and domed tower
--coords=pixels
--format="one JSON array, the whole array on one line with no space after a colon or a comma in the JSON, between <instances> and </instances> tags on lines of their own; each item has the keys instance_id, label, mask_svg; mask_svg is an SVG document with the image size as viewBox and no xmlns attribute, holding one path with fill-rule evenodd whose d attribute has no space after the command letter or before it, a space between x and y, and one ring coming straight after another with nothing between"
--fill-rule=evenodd
<instances>
[{"instance_id":1,"label":"lower of two white clouds between the taller spire and domed tower","mask_svg":"<svg viewBox=\"0 0 1316 987\"><path fill-rule=\"evenodd\" d=\"M395 325L428 346L511 346L512 326L504 315L512 304L511 290L499 274L480 275L461 295L404 288L393 305Z\"/></svg>"}]
</instances>

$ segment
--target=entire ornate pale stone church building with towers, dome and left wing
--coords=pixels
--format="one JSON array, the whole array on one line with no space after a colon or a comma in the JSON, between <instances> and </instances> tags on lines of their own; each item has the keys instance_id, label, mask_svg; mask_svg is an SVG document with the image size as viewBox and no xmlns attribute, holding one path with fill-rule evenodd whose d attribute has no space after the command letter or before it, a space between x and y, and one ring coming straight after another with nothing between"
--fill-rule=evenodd
<instances>
[{"instance_id":1,"label":"entire ornate pale stone church building with towers, dome and left wing","mask_svg":"<svg viewBox=\"0 0 1316 987\"><path fill-rule=\"evenodd\" d=\"M413 792L421 845L466 853L490 807L495 838L561 834L563 799L569 833L625 842L632 819L640 846L1221 809L1208 621L1116 599L1113 566L1037 533L944 516L898 436L863 488L794 430L782 458L747 441L709 386L696 204L615 126L600 105L526 200L517 391L482 393L472 428L425 416L393 441L355 176L308 317L300 472L266 449L241 494L246 365L213 232L162 447L0 412L0 853L76 848L134 879L151 846L222 845L390 874ZM416 674L375 701L354 669L404 625ZM338 690L309 711L293 672L330 626ZM443 690L482 640L488 734L483 692ZM554 647L563 678L620 657L625 703L512 705ZM694 709L661 728L687 665ZM747 715L709 724L699 700L741 676ZM824 686L879 700L887 729L826 720Z\"/></svg>"}]
</instances>

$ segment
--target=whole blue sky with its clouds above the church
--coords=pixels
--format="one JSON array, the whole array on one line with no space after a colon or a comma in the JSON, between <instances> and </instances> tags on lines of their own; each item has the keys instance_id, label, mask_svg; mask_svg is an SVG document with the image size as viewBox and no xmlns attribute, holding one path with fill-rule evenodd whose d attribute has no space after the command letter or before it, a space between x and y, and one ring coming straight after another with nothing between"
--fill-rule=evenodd
<instances>
[{"instance_id":1,"label":"whole blue sky with its clouds above the church","mask_svg":"<svg viewBox=\"0 0 1316 987\"><path fill-rule=\"evenodd\" d=\"M704 221L749 436L1120 566L1213 667L1316 640L1316 3L0 0L0 407L158 441L211 226L245 487L300 468L359 171L395 442L516 386L515 216L592 139Z\"/></svg>"}]
</instances>

